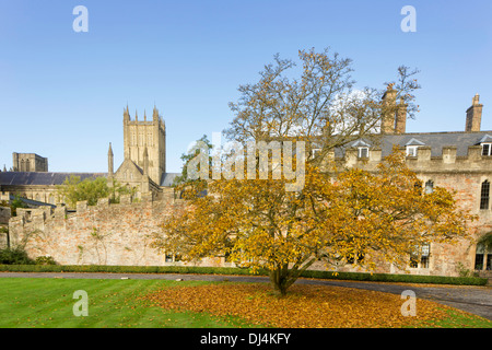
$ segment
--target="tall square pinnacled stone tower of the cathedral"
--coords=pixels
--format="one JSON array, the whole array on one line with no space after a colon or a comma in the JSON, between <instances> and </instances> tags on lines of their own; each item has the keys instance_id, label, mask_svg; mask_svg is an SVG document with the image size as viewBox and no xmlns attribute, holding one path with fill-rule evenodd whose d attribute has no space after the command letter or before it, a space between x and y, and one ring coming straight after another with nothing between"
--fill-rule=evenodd
<instances>
[{"instance_id":1,"label":"tall square pinnacled stone tower of the cathedral","mask_svg":"<svg viewBox=\"0 0 492 350\"><path fill-rule=\"evenodd\" d=\"M131 120L127 105L124 110L124 149L125 159L133 161L155 184L161 185L166 172L166 126L155 106L151 120L147 120L145 112L143 120L138 119L137 112L134 120Z\"/></svg>"}]
</instances>

